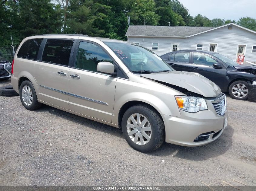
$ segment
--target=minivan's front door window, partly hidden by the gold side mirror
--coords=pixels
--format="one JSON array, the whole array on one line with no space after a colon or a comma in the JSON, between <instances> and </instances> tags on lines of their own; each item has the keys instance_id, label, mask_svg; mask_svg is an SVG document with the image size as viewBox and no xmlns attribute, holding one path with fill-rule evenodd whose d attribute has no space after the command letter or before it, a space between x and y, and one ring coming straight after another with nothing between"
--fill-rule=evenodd
<instances>
[{"instance_id":1,"label":"minivan's front door window, partly hidden by the gold side mirror","mask_svg":"<svg viewBox=\"0 0 256 191\"><path fill-rule=\"evenodd\" d=\"M111 62L111 58L97 45L80 42L75 68L96 72L99 62Z\"/></svg>"}]
</instances>

